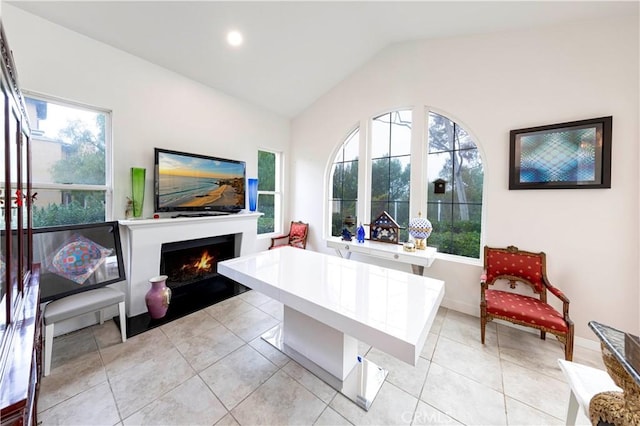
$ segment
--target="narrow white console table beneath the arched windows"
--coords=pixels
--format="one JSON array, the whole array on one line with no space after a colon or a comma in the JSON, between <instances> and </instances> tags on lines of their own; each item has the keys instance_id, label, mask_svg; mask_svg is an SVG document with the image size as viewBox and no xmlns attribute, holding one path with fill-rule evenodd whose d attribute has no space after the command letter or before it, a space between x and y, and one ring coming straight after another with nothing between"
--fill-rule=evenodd
<instances>
[{"instance_id":1,"label":"narrow white console table beneath the arched windows","mask_svg":"<svg viewBox=\"0 0 640 426\"><path fill-rule=\"evenodd\" d=\"M408 263L414 274L422 275L425 266L431 266L436 260L438 250L435 247L427 247L426 250L413 252L404 251L401 244L381 243L365 240L362 243L356 240L344 241L340 237L327 238L327 247L336 250L336 253L345 259L351 258L351 253L359 253L367 256L389 259L394 262Z\"/></svg>"}]
</instances>

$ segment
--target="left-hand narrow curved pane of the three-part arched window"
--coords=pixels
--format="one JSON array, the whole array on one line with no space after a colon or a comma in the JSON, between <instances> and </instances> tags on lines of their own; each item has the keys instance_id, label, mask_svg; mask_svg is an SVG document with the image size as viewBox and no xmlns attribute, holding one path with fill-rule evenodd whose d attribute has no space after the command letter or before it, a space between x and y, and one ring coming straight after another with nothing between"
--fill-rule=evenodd
<instances>
[{"instance_id":1,"label":"left-hand narrow curved pane of the three-part arched window","mask_svg":"<svg viewBox=\"0 0 640 426\"><path fill-rule=\"evenodd\" d=\"M347 216L357 217L360 129L344 141L331 170L331 235L339 236Z\"/></svg>"}]
</instances>

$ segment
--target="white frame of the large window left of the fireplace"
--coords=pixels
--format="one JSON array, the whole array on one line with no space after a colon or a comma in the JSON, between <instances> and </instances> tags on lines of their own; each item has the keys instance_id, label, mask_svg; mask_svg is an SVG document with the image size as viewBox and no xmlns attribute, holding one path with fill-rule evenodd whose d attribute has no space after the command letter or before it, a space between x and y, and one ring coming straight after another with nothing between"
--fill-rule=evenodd
<instances>
[{"instance_id":1,"label":"white frame of the large window left of the fireplace","mask_svg":"<svg viewBox=\"0 0 640 426\"><path fill-rule=\"evenodd\" d=\"M84 104L77 101L71 101L57 96L45 95L39 92L24 90L23 96L26 98L45 101L47 103L54 103L68 108L75 108L79 110L90 111L93 113L104 114L105 116L105 128L104 128L104 149L105 149L105 183L104 185L93 184L75 184L75 183L48 183L42 181L33 180L32 188L33 192L38 190L59 190L59 191L96 191L104 192L104 214L105 222L114 220L113 215L113 111L107 108L97 107L93 105ZM38 135L32 132L31 143L32 145L38 140ZM35 168L32 166L32 169ZM36 201L37 203L37 201ZM80 224L77 224L80 225Z\"/></svg>"}]
</instances>

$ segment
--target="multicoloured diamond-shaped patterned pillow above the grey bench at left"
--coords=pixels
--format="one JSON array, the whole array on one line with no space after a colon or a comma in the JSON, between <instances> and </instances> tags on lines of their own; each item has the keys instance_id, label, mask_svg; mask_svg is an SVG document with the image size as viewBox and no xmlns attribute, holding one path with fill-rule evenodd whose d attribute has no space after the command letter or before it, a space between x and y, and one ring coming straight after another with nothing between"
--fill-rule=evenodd
<instances>
[{"instance_id":1,"label":"multicoloured diamond-shaped patterned pillow above the grey bench at left","mask_svg":"<svg viewBox=\"0 0 640 426\"><path fill-rule=\"evenodd\" d=\"M111 252L111 249L104 248L82 235L74 234L49 256L47 269L82 285Z\"/></svg>"}]
</instances>

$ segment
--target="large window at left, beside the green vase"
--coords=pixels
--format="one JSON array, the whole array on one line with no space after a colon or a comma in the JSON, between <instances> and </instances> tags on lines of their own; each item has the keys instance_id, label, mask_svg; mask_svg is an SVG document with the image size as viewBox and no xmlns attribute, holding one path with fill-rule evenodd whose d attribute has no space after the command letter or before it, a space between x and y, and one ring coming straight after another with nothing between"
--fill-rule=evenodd
<instances>
[{"instance_id":1,"label":"large window at left, beside the green vase","mask_svg":"<svg viewBox=\"0 0 640 426\"><path fill-rule=\"evenodd\" d=\"M111 114L26 96L31 123L33 226L103 222L110 216Z\"/></svg>"}]
</instances>

